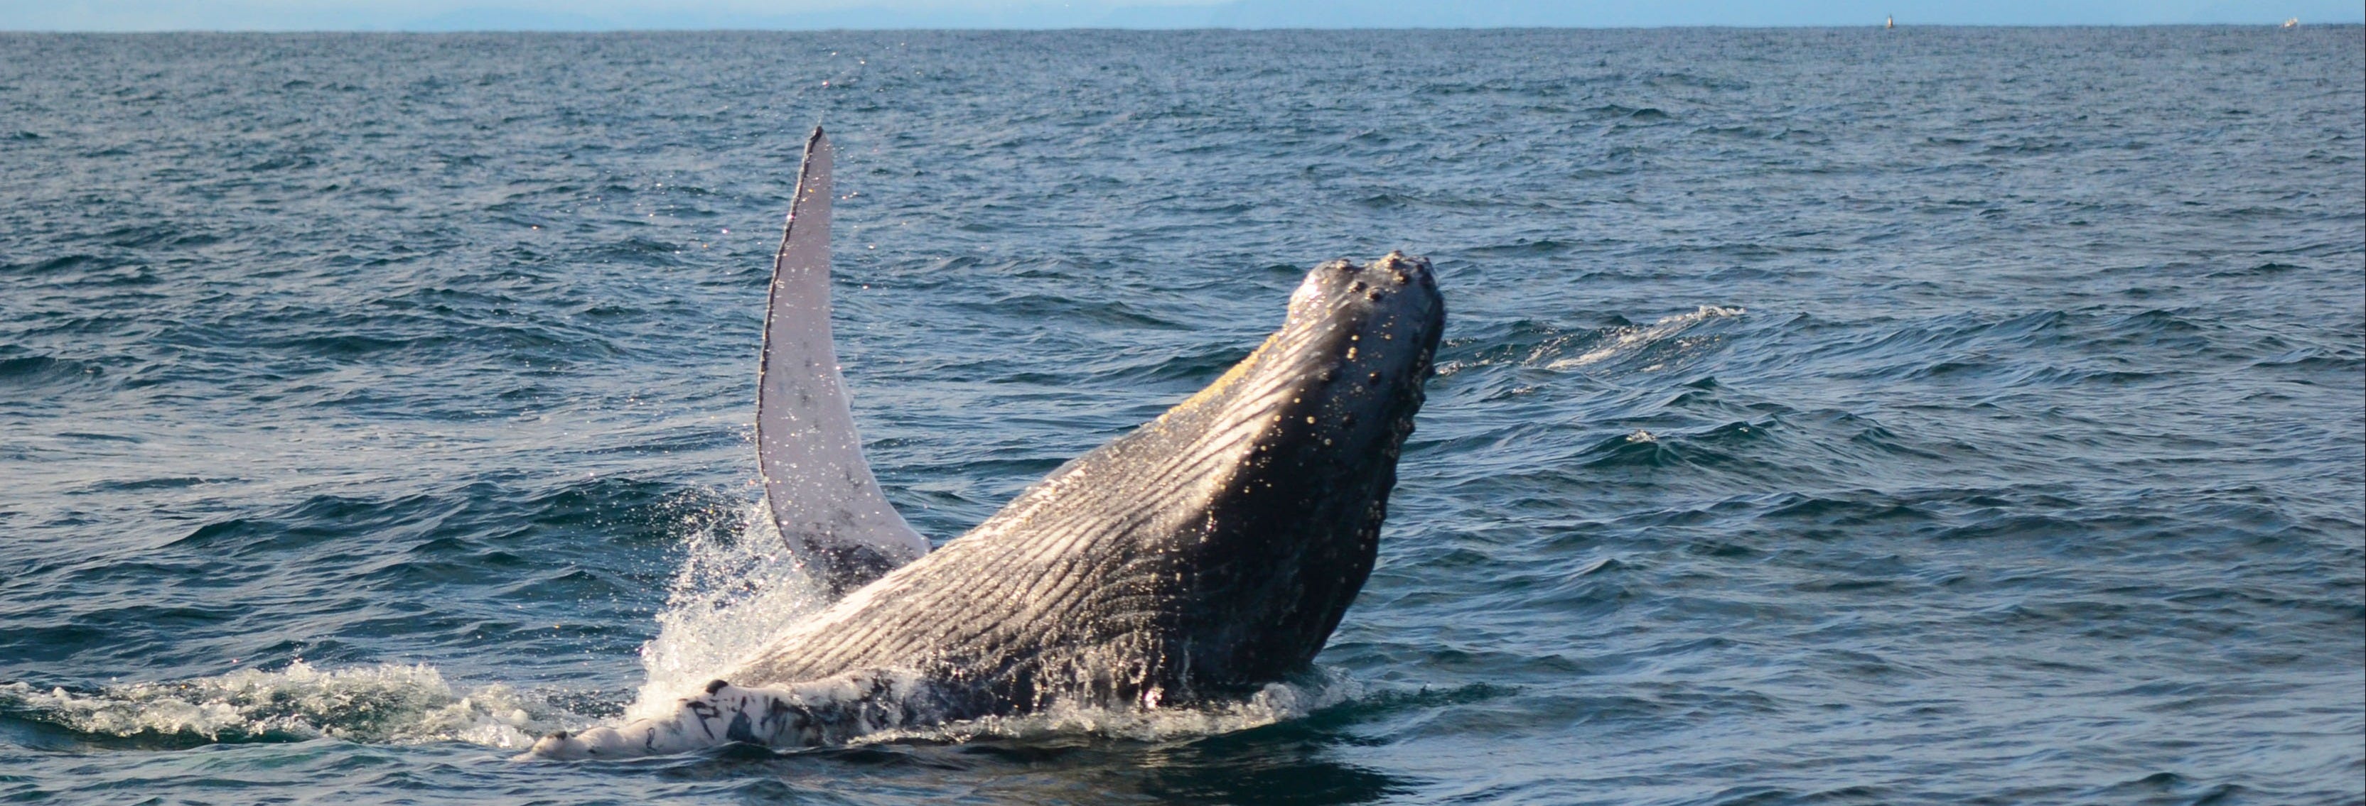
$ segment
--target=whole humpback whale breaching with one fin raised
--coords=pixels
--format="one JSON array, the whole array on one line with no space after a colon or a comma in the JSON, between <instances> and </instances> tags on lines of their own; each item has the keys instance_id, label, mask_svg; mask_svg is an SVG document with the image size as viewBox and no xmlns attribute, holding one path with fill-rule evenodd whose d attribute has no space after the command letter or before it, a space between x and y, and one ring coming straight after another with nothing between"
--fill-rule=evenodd
<instances>
[{"instance_id":1,"label":"whole humpback whale breaching with one fin raised","mask_svg":"<svg viewBox=\"0 0 2366 806\"><path fill-rule=\"evenodd\" d=\"M1318 265L1207 390L930 551L864 463L830 352L828 173L816 128L774 260L757 451L781 534L842 596L672 714L530 756L1190 707L1308 669L1372 572L1422 407L1446 324L1429 262Z\"/></svg>"}]
</instances>

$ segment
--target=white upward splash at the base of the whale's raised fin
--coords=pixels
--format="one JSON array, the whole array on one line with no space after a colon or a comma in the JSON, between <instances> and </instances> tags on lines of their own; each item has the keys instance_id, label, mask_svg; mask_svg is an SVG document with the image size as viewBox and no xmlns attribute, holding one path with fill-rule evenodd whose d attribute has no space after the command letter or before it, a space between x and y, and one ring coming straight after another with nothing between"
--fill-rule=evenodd
<instances>
[{"instance_id":1,"label":"white upward splash at the base of the whale's raised fin","mask_svg":"<svg viewBox=\"0 0 2366 806\"><path fill-rule=\"evenodd\" d=\"M648 681L625 719L674 711L724 669L769 645L828 605L821 584L797 563L764 503L750 503L736 527L691 534L681 570L658 612L658 638L641 645Z\"/></svg>"}]
</instances>

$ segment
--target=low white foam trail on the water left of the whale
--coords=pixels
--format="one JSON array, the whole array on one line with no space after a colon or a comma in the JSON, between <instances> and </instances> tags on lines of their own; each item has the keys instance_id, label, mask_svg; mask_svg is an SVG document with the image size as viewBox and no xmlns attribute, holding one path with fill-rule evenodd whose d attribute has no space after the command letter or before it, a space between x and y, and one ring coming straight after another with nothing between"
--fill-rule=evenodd
<instances>
[{"instance_id":1,"label":"low white foam trail on the water left of the whale","mask_svg":"<svg viewBox=\"0 0 2366 806\"><path fill-rule=\"evenodd\" d=\"M0 685L0 702L95 735L237 740L338 737L348 742L473 742L530 747L537 735L582 716L521 697L509 685L468 693L435 667L322 671L293 662L279 671L241 669L211 678L125 683L97 693Z\"/></svg>"}]
</instances>

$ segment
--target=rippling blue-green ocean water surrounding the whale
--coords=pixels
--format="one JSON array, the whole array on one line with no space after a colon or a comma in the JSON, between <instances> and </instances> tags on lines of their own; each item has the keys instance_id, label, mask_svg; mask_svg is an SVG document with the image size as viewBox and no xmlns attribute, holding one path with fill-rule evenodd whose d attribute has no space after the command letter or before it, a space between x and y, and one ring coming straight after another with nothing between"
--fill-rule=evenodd
<instances>
[{"instance_id":1,"label":"rippling blue-green ocean water surrounding the whale","mask_svg":"<svg viewBox=\"0 0 2366 806\"><path fill-rule=\"evenodd\" d=\"M1304 678L509 761L809 612L802 135L951 539L1436 260ZM0 801L2359 804L2366 38L0 33Z\"/></svg>"}]
</instances>

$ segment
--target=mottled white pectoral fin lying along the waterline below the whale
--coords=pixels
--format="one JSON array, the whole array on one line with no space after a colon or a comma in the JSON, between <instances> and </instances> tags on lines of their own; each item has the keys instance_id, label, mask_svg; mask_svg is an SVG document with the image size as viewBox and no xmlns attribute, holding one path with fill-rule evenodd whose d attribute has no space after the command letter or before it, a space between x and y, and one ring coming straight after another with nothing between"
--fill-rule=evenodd
<instances>
[{"instance_id":1,"label":"mottled white pectoral fin lying along the waterline below the whale","mask_svg":"<svg viewBox=\"0 0 2366 806\"><path fill-rule=\"evenodd\" d=\"M904 671L861 671L781 688L715 681L705 693L677 700L672 714L613 728L558 730L518 759L662 756L729 742L814 747L942 716L935 685Z\"/></svg>"}]
</instances>

